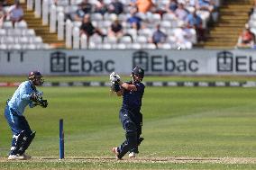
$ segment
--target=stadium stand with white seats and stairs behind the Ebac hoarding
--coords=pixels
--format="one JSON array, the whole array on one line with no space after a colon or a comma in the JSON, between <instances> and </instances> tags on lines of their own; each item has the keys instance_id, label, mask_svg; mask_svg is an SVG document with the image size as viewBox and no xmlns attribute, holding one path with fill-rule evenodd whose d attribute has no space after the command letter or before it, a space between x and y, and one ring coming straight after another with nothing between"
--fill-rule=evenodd
<instances>
[{"instance_id":1,"label":"stadium stand with white seats and stairs behind the Ebac hoarding","mask_svg":"<svg viewBox=\"0 0 256 170\"><path fill-rule=\"evenodd\" d=\"M14 0L7 2L9 5L14 4ZM253 0L21 0L25 9L22 22L11 26L11 22L5 20L1 27L0 20L0 34L13 37L1 38L0 43L3 45L0 48L20 49L19 45L14 46L12 43L20 44L21 49L233 48L248 20L248 14L246 17L244 13L250 11L252 2ZM147 6L138 6L143 4ZM8 7L5 6L6 11ZM194 12L195 16L191 14ZM88 37L81 33L80 28L86 14L90 16L93 27L100 30L101 36L92 33ZM253 33L256 30L255 18L251 14L249 25ZM122 25L121 36L114 37L109 33L114 21ZM167 38L156 46L151 38L157 25Z\"/></svg>"}]
</instances>

